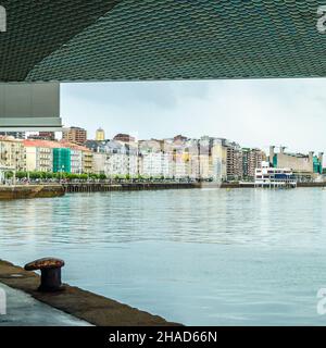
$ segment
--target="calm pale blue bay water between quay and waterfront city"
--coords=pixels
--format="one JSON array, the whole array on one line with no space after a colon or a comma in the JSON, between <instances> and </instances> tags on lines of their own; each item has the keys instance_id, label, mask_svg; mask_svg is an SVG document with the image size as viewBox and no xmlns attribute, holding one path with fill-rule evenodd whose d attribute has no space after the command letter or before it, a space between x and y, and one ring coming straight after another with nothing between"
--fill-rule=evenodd
<instances>
[{"instance_id":1,"label":"calm pale blue bay water between quay and waterfront city","mask_svg":"<svg viewBox=\"0 0 326 348\"><path fill-rule=\"evenodd\" d=\"M193 189L0 202L0 258L195 325L326 325L326 191Z\"/></svg>"}]
</instances>

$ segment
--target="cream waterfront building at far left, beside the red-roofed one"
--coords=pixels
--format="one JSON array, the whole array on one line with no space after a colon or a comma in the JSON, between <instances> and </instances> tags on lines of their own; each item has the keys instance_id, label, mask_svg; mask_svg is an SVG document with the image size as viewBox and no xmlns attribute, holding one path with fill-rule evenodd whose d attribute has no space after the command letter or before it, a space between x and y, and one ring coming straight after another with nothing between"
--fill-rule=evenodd
<instances>
[{"instance_id":1,"label":"cream waterfront building at far left, beside the red-roofed one","mask_svg":"<svg viewBox=\"0 0 326 348\"><path fill-rule=\"evenodd\" d=\"M0 165L16 171L25 170L25 149L22 140L13 137L0 137Z\"/></svg>"}]
</instances>

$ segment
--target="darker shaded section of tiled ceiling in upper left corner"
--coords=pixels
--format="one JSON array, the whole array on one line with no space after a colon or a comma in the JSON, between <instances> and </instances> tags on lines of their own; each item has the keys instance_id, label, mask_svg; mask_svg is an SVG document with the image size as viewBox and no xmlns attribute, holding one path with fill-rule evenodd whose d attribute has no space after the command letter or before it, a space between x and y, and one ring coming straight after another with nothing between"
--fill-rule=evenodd
<instances>
[{"instance_id":1,"label":"darker shaded section of tiled ceiling in upper left corner","mask_svg":"<svg viewBox=\"0 0 326 348\"><path fill-rule=\"evenodd\" d=\"M30 70L118 0L0 0L7 32L0 33L0 82L22 82Z\"/></svg>"}]
</instances>

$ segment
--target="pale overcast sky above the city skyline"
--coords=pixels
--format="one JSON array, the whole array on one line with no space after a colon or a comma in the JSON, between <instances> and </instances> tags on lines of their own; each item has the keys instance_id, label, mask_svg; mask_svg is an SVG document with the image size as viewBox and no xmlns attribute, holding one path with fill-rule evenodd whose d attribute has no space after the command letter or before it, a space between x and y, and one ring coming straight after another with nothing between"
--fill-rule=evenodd
<instances>
[{"instance_id":1,"label":"pale overcast sky above the city skyline","mask_svg":"<svg viewBox=\"0 0 326 348\"><path fill-rule=\"evenodd\" d=\"M66 126L106 138L225 137L326 152L326 79L62 84Z\"/></svg>"}]
</instances>

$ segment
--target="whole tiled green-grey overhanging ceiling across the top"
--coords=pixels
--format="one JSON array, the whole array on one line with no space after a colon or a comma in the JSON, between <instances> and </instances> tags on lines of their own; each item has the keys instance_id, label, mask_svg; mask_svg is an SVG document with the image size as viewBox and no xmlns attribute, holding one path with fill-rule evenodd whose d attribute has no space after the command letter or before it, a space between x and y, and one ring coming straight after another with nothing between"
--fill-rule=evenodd
<instances>
[{"instance_id":1,"label":"whole tiled green-grey overhanging ceiling across the top","mask_svg":"<svg viewBox=\"0 0 326 348\"><path fill-rule=\"evenodd\" d=\"M322 1L0 1L1 82L326 76Z\"/></svg>"}]
</instances>

